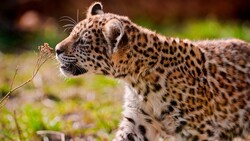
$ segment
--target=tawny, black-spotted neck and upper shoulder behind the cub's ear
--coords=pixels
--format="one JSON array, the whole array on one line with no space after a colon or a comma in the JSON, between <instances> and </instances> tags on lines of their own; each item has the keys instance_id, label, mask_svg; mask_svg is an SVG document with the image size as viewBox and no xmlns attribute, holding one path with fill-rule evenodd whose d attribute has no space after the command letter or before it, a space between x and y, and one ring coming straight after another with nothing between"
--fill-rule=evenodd
<instances>
[{"instance_id":1,"label":"tawny, black-spotted neck and upper shoulder behind the cub's ear","mask_svg":"<svg viewBox=\"0 0 250 141\"><path fill-rule=\"evenodd\" d=\"M115 77L135 85L201 75L205 58L190 41L164 37L136 25L126 26L125 31L128 44L113 56Z\"/></svg>"}]
</instances>

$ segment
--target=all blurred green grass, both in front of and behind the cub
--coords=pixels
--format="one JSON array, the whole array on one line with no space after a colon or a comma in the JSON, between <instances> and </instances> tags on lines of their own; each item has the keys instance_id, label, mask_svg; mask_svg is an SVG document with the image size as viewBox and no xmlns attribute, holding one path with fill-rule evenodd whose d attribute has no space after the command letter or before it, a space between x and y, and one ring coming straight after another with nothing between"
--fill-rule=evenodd
<instances>
[{"instance_id":1,"label":"all blurred green grass, both in front of and behind the cub","mask_svg":"<svg viewBox=\"0 0 250 141\"><path fill-rule=\"evenodd\" d=\"M216 20L166 25L136 22L166 36L193 40L234 37L250 41L250 28L245 24ZM46 30L35 36L30 45L48 42L54 46L62 38L58 34ZM14 86L31 76L36 58L34 51L0 56L0 97L9 91L16 66L19 70ZM39 130L60 131L71 138L111 140L121 119L122 88L118 81L100 75L66 79L60 75L57 62L49 61L30 84L15 91L0 109L0 141L19 139L14 111L23 141L40 140L36 134Z\"/></svg>"}]
</instances>

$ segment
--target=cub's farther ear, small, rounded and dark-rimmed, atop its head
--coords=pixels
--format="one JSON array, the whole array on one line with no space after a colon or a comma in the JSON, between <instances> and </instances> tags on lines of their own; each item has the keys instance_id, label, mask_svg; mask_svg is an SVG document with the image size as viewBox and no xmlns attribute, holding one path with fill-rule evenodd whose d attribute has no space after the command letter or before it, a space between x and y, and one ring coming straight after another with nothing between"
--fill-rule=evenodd
<instances>
[{"instance_id":1,"label":"cub's farther ear, small, rounded and dark-rimmed, atop its head","mask_svg":"<svg viewBox=\"0 0 250 141\"><path fill-rule=\"evenodd\" d=\"M103 6L100 2L95 2L90 5L87 11L87 18L97 14L103 14Z\"/></svg>"}]
</instances>

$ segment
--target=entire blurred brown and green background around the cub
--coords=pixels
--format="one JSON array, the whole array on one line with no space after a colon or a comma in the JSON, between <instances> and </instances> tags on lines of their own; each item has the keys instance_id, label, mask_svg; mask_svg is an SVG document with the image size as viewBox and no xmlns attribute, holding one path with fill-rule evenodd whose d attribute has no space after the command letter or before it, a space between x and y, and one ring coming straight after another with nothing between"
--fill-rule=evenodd
<instances>
[{"instance_id":1,"label":"entire blurred brown and green background around the cub","mask_svg":"<svg viewBox=\"0 0 250 141\"><path fill-rule=\"evenodd\" d=\"M37 46L65 38L63 16L84 19L90 0L3 0L0 5L0 98L31 77ZM128 16L166 36L250 41L248 0L103 0L105 12ZM79 15L77 14L79 11ZM78 16L77 16L78 15ZM0 141L111 140L121 119L123 83L103 76L64 78L56 60L0 108ZM15 113L15 114L14 114ZM42 135L37 134L42 131Z\"/></svg>"}]
</instances>

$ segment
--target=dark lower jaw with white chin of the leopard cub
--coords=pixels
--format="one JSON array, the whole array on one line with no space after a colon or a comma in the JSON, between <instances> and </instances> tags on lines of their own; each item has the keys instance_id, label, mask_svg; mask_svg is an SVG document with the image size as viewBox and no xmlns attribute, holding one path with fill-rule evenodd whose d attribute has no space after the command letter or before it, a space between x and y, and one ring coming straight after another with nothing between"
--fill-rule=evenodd
<instances>
[{"instance_id":1,"label":"dark lower jaw with white chin of the leopard cub","mask_svg":"<svg viewBox=\"0 0 250 141\"><path fill-rule=\"evenodd\" d=\"M66 76L68 75L77 76L87 72L86 69L79 67L78 65L76 65L76 63L61 64L60 70Z\"/></svg>"}]
</instances>

